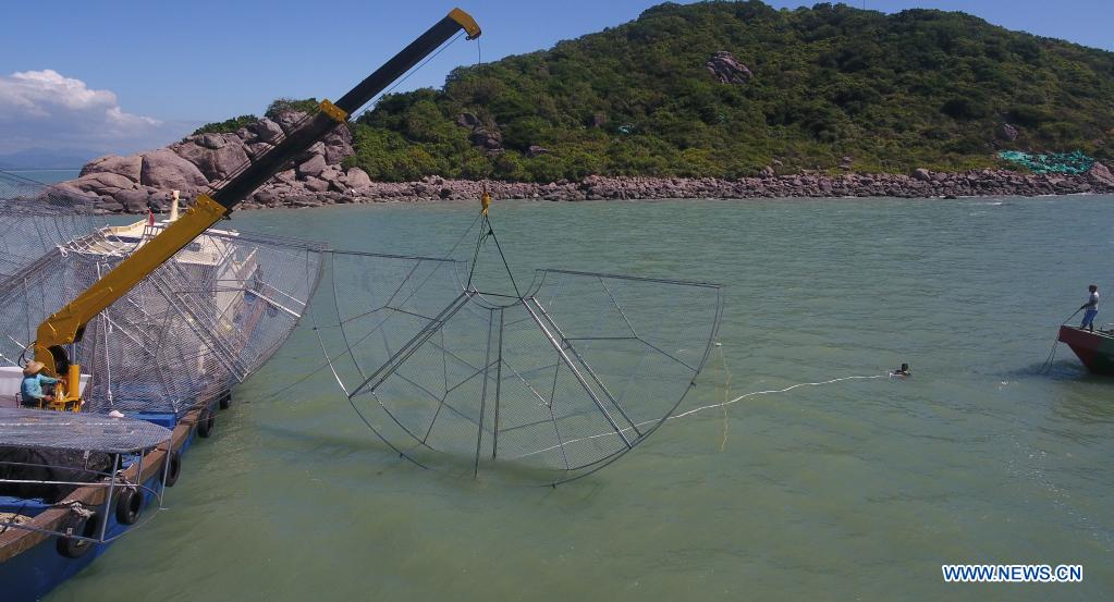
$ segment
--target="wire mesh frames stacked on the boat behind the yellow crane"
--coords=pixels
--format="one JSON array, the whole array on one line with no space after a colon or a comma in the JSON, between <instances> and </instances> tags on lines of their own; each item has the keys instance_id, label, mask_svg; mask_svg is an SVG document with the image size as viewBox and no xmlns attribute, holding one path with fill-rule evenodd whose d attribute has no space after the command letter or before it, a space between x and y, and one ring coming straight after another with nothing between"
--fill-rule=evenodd
<instances>
[{"instance_id":1,"label":"wire mesh frames stacked on the boat behind the yellow crane","mask_svg":"<svg viewBox=\"0 0 1114 602\"><path fill-rule=\"evenodd\" d=\"M36 236L28 230L0 231L0 248L14 249L0 283L0 361L9 365L29 358L43 319L165 227L138 223L77 234L92 224L91 211L55 216L52 207L66 205L45 199L65 199L65 189L28 195L30 187L22 188L6 199L4 217L56 234L35 241L40 250L21 241ZM95 317L71 346L69 357L91 375L82 383L82 411L182 416L227 395L297 324L319 282L322 248L209 229Z\"/></svg>"}]
</instances>

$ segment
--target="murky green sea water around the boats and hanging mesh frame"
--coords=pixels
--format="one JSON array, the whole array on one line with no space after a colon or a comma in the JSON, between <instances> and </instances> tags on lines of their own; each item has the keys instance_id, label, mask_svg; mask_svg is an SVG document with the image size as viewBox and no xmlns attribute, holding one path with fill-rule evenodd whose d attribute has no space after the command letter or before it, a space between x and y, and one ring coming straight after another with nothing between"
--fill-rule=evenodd
<instances>
[{"instance_id":1,"label":"murky green sea water around the boats and hanging mesh frame","mask_svg":"<svg viewBox=\"0 0 1114 602\"><path fill-rule=\"evenodd\" d=\"M437 254L473 204L236 214L336 248ZM167 509L48 600L1103 600L1114 596L1114 379L1059 348L1114 292L1114 197L500 201L535 267L726 285L671 421L556 488L384 450L306 329L236 391ZM1100 323L1114 322L1103 309ZM1104 317L1106 319L1104 319ZM723 355L720 355L720 351ZM731 391L724 391L730 369ZM949 584L944 563L1082 564L1082 583Z\"/></svg>"}]
</instances>

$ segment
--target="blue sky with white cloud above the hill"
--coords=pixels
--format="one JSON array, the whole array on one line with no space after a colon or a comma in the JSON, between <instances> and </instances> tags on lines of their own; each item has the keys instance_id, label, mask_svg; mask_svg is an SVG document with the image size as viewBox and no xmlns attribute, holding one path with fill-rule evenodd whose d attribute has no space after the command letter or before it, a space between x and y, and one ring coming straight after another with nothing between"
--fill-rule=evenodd
<instances>
[{"instance_id":1,"label":"blue sky with white cloud above the hill","mask_svg":"<svg viewBox=\"0 0 1114 602\"><path fill-rule=\"evenodd\" d=\"M399 90L460 65L551 47L637 18L654 0L58 0L11 2L0 36L0 156L156 148L278 97L336 98L455 6L483 29ZM769 1L778 8L813 2ZM962 10L1008 29L1114 50L1114 0L852 0ZM91 157L90 157L91 158Z\"/></svg>"}]
</instances>

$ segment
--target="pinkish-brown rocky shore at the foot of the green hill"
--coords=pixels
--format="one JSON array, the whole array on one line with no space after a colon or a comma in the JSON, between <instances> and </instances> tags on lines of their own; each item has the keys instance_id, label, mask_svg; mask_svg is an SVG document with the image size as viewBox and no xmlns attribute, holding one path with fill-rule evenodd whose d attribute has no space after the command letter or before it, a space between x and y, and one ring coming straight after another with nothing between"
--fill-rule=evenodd
<instances>
[{"instance_id":1,"label":"pinkish-brown rocky shore at the foot of the green hill","mask_svg":"<svg viewBox=\"0 0 1114 602\"><path fill-rule=\"evenodd\" d=\"M144 213L148 201L165 206L170 190L189 199L233 175L280 140L304 117L290 112L262 119L233 134L190 136L169 147L130 155L106 156L87 164L76 180L57 185L95 196L100 213ZM612 200L662 198L794 198L794 197L966 197L1040 196L1114 193L1111 170L1095 164L1086 174L1024 175L1005 169L899 174L779 175L774 166L760 177L655 178L590 176L582 181L550 184L450 180L428 177L413 182L377 182L342 161L353 154L346 128L294 160L243 208L317 207L352 203L473 200L485 187L496 198L538 200Z\"/></svg>"}]
</instances>

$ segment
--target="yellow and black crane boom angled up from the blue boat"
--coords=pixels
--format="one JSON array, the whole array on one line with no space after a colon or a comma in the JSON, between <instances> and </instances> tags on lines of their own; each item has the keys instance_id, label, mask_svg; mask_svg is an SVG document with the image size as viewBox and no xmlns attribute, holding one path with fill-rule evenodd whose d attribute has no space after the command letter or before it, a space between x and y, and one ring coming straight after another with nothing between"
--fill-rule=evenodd
<instances>
[{"instance_id":1,"label":"yellow and black crane boom angled up from the blue boat","mask_svg":"<svg viewBox=\"0 0 1114 602\"><path fill-rule=\"evenodd\" d=\"M209 226L227 216L271 176L281 171L291 159L310 148L339 124L348 121L353 111L383 91L391 82L461 30L468 34L470 40L480 36L480 28L476 20L460 9L453 9L367 79L349 90L335 105L328 100L322 101L320 111L296 130L290 132L274 148L248 165L246 169L214 190L212 196L198 195L190 211L172 223L40 324L36 333L35 358L43 363L48 374L58 375L60 368L65 371L69 361L62 345L81 341L81 335L89 320L126 295L158 266L174 257L174 254L204 234ZM71 381L74 381L71 387L74 391L68 395L70 401L77 399L77 378L74 377L74 374L77 373L74 369L76 367L69 367Z\"/></svg>"}]
</instances>

